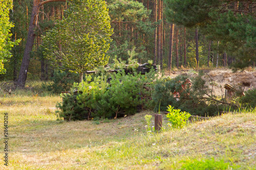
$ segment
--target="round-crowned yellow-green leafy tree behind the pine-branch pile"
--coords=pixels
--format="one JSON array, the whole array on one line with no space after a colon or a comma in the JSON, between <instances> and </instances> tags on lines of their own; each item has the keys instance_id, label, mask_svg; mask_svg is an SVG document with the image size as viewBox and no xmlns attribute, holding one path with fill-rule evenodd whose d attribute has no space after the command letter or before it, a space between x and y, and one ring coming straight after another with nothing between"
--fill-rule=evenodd
<instances>
[{"instance_id":1,"label":"round-crowned yellow-green leafy tree behind the pine-branch pile","mask_svg":"<svg viewBox=\"0 0 256 170\"><path fill-rule=\"evenodd\" d=\"M104 1L74 0L69 3L66 17L43 38L45 56L60 69L79 73L108 63L110 25Z\"/></svg>"}]
</instances>

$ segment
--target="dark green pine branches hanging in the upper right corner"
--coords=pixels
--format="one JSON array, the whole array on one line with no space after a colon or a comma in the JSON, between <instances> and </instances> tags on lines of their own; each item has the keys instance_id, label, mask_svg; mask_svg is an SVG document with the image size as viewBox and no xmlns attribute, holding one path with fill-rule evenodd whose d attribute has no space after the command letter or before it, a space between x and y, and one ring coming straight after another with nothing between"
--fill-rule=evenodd
<instances>
[{"instance_id":1,"label":"dark green pine branches hanging in the upper right corner","mask_svg":"<svg viewBox=\"0 0 256 170\"><path fill-rule=\"evenodd\" d=\"M185 27L200 27L209 40L219 41L219 53L236 57L234 64L243 68L256 62L255 12L247 3L234 1L165 0L166 15L170 22ZM234 4L239 9L234 9ZM248 5L248 7L247 7ZM242 12L240 12L242 10Z\"/></svg>"}]
</instances>

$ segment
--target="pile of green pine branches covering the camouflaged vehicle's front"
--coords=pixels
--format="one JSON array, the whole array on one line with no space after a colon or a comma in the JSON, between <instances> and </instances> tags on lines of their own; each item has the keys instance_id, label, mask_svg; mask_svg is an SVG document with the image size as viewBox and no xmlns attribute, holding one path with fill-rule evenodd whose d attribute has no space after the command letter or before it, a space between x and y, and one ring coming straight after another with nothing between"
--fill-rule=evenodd
<instances>
[{"instance_id":1,"label":"pile of green pine branches covering the camouflaged vehicle's front","mask_svg":"<svg viewBox=\"0 0 256 170\"><path fill-rule=\"evenodd\" d=\"M71 104L66 102L58 105L62 110L59 115L72 116L76 113L76 110L72 110L73 108L84 111L78 119L87 117L104 119L123 116L124 114L131 115L143 108L151 108L151 90L153 80L155 80L154 69L145 75L137 74L136 71L133 73L134 75L126 75L123 70L113 74L110 84L106 82L106 76L98 76L94 79L90 75L86 76L83 83L74 83L73 85L73 89L78 90L76 100L69 100ZM63 100L70 99L71 96L66 95L68 94L62 95Z\"/></svg>"}]
</instances>

